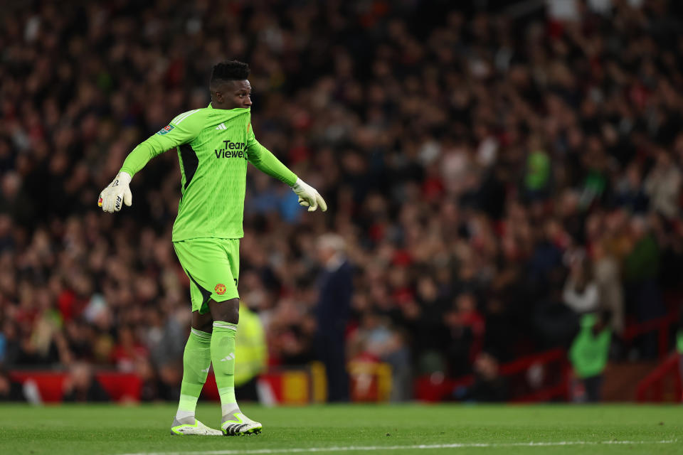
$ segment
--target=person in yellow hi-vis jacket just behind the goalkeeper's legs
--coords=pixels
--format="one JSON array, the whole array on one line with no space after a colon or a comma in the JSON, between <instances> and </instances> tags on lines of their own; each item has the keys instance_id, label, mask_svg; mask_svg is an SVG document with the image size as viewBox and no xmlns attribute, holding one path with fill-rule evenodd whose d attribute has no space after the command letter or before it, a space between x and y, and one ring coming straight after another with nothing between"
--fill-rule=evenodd
<instances>
[{"instance_id":1,"label":"person in yellow hi-vis jacket just behind the goalkeeper's legs","mask_svg":"<svg viewBox=\"0 0 683 455\"><path fill-rule=\"evenodd\" d=\"M235 395L240 401L258 401L256 385L267 356L261 320L240 301L240 330L235 336Z\"/></svg>"}]
</instances>

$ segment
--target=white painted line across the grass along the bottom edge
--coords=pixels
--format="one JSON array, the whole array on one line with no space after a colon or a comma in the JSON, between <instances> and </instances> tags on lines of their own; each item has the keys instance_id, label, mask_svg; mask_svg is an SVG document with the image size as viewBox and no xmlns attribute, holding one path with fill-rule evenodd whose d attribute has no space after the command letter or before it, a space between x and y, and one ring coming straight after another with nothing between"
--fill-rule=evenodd
<instances>
[{"instance_id":1,"label":"white painted line across the grass along the bottom edge","mask_svg":"<svg viewBox=\"0 0 683 455\"><path fill-rule=\"evenodd\" d=\"M259 454L307 454L314 452L347 452L374 450L424 450L424 449L467 449L472 447L552 447L552 446L599 446L602 444L674 444L678 439L662 441L554 441L554 442L465 442L454 444L419 444L415 446L345 446L345 447L301 447L297 449L247 449L247 450L207 450L193 452L140 452L124 455L259 455Z\"/></svg>"}]
</instances>

